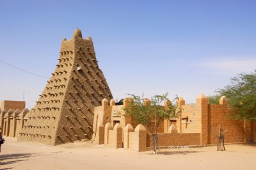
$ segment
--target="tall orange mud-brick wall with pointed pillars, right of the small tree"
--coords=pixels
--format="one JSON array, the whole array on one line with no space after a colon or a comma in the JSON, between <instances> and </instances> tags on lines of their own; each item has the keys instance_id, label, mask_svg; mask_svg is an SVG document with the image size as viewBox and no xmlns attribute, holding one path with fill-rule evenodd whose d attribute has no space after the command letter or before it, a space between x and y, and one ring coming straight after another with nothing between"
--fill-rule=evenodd
<instances>
[{"instance_id":1,"label":"tall orange mud-brick wall with pointed pillars, right of the small tree","mask_svg":"<svg viewBox=\"0 0 256 170\"><path fill-rule=\"evenodd\" d=\"M222 125L225 143L248 143L256 141L255 122L232 120L227 98L221 97L220 104L208 104L200 95L194 105L181 105L182 112L177 120L179 133L201 133L202 144L218 143L218 130ZM188 118L188 119L186 119Z\"/></svg>"}]
</instances>

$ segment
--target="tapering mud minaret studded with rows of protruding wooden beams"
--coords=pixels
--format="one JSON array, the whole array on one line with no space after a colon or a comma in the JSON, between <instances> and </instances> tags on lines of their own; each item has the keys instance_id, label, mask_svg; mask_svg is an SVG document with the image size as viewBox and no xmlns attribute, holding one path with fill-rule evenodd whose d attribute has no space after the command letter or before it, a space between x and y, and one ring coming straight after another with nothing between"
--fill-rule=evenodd
<instances>
[{"instance_id":1,"label":"tapering mud minaret studded with rows of protruding wooden beams","mask_svg":"<svg viewBox=\"0 0 256 170\"><path fill-rule=\"evenodd\" d=\"M92 139L93 108L111 100L108 83L99 69L92 38L80 29L61 42L60 58L36 105L26 115L19 141L45 144Z\"/></svg>"}]
</instances>

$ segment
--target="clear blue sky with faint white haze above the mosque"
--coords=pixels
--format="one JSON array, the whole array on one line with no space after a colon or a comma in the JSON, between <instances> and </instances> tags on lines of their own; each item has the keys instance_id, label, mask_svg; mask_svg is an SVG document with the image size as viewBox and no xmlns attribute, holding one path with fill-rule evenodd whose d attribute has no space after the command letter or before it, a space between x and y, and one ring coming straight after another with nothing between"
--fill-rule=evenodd
<instances>
[{"instance_id":1,"label":"clear blue sky with faint white haze above the mosque","mask_svg":"<svg viewBox=\"0 0 256 170\"><path fill-rule=\"evenodd\" d=\"M51 77L62 38L92 36L113 97L186 103L256 68L256 1L0 1L0 59ZM31 108L47 79L0 63L0 100Z\"/></svg>"}]
</instances>

